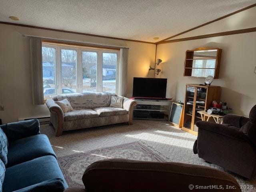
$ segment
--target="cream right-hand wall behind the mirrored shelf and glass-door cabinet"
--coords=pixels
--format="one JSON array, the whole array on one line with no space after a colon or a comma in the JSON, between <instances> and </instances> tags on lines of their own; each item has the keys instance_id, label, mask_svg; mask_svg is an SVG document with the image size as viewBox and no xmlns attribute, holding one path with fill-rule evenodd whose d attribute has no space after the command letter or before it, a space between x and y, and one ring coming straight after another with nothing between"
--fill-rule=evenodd
<instances>
[{"instance_id":1,"label":"cream right-hand wall behind the mirrored shelf and glass-door cabinet","mask_svg":"<svg viewBox=\"0 0 256 192\"><path fill-rule=\"evenodd\" d=\"M255 20L254 7L176 38L256 27ZM256 32L158 44L157 58L163 60L159 77L168 78L168 97L184 101L186 84L204 83L204 78L183 76L186 50L199 47L222 49L219 79L212 84L221 86L220 99L228 102L235 114L248 116L256 104Z\"/></svg>"}]
</instances>

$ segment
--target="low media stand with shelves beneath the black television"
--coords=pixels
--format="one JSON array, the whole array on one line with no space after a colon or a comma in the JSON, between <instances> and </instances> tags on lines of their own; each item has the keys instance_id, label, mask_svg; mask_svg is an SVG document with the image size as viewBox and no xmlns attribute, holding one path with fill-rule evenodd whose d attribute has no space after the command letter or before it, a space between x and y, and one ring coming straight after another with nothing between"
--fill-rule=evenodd
<instances>
[{"instance_id":1,"label":"low media stand with shelves beneath the black television","mask_svg":"<svg viewBox=\"0 0 256 192\"><path fill-rule=\"evenodd\" d=\"M168 120L172 100L134 99L133 119Z\"/></svg>"}]
</instances>

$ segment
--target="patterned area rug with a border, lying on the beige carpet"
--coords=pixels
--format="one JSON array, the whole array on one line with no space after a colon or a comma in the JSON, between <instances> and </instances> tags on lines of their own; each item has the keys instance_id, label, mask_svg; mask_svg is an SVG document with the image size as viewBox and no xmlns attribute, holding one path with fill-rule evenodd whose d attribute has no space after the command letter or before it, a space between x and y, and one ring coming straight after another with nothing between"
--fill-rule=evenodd
<instances>
[{"instance_id":1,"label":"patterned area rug with a border, lying on the beige carpet","mask_svg":"<svg viewBox=\"0 0 256 192\"><path fill-rule=\"evenodd\" d=\"M140 142L80 152L58 158L68 186L83 187L82 175L87 166L98 160L125 158L132 160L166 162L159 152L154 152Z\"/></svg>"}]
</instances>

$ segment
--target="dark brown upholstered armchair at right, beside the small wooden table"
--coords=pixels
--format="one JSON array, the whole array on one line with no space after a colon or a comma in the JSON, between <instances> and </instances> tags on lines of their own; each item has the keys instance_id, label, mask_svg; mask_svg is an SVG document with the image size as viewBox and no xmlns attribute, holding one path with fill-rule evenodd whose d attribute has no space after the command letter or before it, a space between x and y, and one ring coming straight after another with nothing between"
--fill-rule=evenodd
<instances>
[{"instance_id":1,"label":"dark brown upholstered armchair at right, beside the small wooden table","mask_svg":"<svg viewBox=\"0 0 256 192\"><path fill-rule=\"evenodd\" d=\"M194 153L207 162L252 179L256 174L256 105L249 118L228 114L223 124L198 121Z\"/></svg>"}]
</instances>

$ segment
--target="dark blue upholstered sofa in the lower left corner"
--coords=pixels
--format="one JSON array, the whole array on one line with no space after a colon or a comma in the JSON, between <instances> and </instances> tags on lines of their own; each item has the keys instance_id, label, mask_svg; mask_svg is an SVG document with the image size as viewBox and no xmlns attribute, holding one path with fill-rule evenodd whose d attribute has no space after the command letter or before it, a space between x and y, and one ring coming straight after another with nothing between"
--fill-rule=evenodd
<instances>
[{"instance_id":1,"label":"dark blue upholstered sofa in the lower left corner","mask_svg":"<svg viewBox=\"0 0 256 192\"><path fill-rule=\"evenodd\" d=\"M0 192L63 192L68 185L37 119L0 126Z\"/></svg>"}]
</instances>

